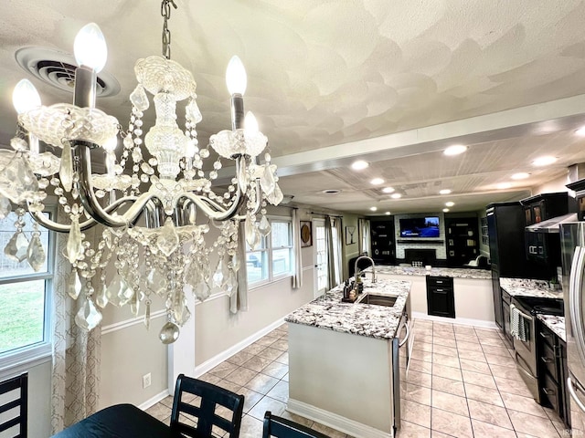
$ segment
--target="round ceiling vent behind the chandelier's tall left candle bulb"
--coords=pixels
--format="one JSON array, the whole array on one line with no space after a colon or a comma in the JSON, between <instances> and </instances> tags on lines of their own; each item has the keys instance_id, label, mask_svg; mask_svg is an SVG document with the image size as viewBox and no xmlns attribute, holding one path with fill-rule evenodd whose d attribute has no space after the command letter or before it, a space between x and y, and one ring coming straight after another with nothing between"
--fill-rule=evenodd
<instances>
[{"instance_id":1,"label":"round ceiling vent behind the chandelier's tall left candle bulb","mask_svg":"<svg viewBox=\"0 0 585 438\"><path fill-rule=\"evenodd\" d=\"M75 87L75 57L47 47L24 47L16 51L18 65L44 83L73 92ZM101 70L97 78L96 95L104 98L120 92L120 84Z\"/></svg>"}]
</instances>

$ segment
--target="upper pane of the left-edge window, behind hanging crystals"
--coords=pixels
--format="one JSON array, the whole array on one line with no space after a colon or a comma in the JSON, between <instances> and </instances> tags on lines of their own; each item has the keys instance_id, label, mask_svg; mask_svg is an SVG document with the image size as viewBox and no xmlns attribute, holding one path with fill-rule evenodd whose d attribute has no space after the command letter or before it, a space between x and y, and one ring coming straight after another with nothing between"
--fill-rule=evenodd
<instances>
[{"instance_id":1,"label":"upper pane of the left-edge window, behind hanging crystals","mask_svg":"<svg viewBox=\"0 0 585 438\"><path fill-rule=\"evenodd\" d=\"M28 265L27 260L18 263L16 260L11 259L4 254L5 246L16 232L15 222L17 218L18 216L15 213L10 213L5 217L5 219L0 220L0 278L5 278L7 276L23 276L35 272L35 270L30 265ZM27 236L27 240L30 242L33 231L32 224L34 221L32 217L30 217L30 214L25 214L24 220L25 227L23 230ZM40 242L43 245L45 254L47 254L48 230L42 226L39 226L38 231L40 232ZM45 258L45 264L40 268L39 272L47 271L48 262L47 258Z\"/></svg>"}]
</instances>

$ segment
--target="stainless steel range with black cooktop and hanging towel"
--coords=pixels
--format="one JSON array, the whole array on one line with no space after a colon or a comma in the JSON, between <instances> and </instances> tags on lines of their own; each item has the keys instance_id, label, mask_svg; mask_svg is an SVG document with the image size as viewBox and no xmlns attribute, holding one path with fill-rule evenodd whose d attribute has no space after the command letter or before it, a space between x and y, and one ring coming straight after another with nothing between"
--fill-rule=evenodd
<instances>
[{"instance_id":1,"label":"stainless steel range with black cooktop and hanging towel","mask_svg":"<svg viewBox=\"0 0 585 438\"><path fill-rule=\"evenodd\" d=\"M513 297L510 318L517 318L514 333L516 367L534 399L540 403L537 367L537 314L563 315L563 300L540 297Z\"/></svg>"}]
</instances>

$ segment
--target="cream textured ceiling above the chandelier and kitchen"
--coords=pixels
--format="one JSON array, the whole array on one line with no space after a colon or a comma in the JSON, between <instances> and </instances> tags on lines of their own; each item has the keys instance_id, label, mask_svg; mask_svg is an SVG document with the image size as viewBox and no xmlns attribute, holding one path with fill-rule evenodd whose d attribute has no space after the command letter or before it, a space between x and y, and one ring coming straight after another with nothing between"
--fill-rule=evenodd
<instances>
[{"instance_id":1,"label":"cream textured ceiling above the chandelier and kitchen","mask_svg":"<svg viewBox=\"0 0 585 438\"><path fill-rule=\"evenodd\" d=\"M481 208L486 201L522 197L530 187L562 175L569 164L585 161L583 141L571 133L583 111L575 100L571 105L577 108L565 111L568 105L561 100L585 93L584 2L176 0L176 4L169 22L172 58L193 71L197 80L204 117L198 126L200 141L229 127L224 72L229 57L238 54L249 76L246 108L254 111L268 135L271 153L283 168L282 187L295 195L295 201L365 213L371 202L387 202L387 195L367 184L377 173L404 191L405 199L394 204L396 211L440 208L436 192L447 185L459 196L458 207ZM15 130L10 96L20 78L31 78L45 104L71 99L19 68L16 50L49 47L70 52L77 31L90 21L101 26L109 45L105 69L121 85L119 95L99 99L98 106L126 123L127 97L135 86L133 63L161 52L159 2L32 0L4 6L0 143L7 144ZM550 114L558 124L542 123L538 105L548 101L555 105L545 111L547 117ZM515 109L513 119L522 129L493 135L489 115ZM466 132L452 130L450 122L470 118L474 119ZM421 141L430 126L439 127L440 135ZM505 128L505 120L498 126ZM405 131L416 141L398 141L397 133ZM455 139L470 150L447 160L441 148ZM383 141L388 141L388 150ZM529 170L528 159L544 152L558 155L554 168L532 172L528 182L507 193L495 191L495 183L516 169ZM372 166L347 176L351 171L344 166L361 154ZM299 165L285 169L293 162ZM325 188L344 192L336 197L315 194ZM355 193L355 199L344 201L348 193Z\"/></svg>"}]
</instances>

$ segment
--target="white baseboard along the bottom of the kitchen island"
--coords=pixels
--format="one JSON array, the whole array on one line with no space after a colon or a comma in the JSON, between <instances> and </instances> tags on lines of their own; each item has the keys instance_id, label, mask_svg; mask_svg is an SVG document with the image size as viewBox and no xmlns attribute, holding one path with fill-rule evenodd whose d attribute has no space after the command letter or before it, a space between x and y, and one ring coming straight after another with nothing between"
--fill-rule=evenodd
<instances>
[{"instance_id":1,"label":"white baseboard along the bottom of the kitchen island","mask_svg":"<svg viewBox=\"0 0 585 438\"><path fill-rule=\"evenodd\" d=\"M325 411L312 404L291 398L289 398L286 410L356 438L392 438L394 436L393 433L385 433L367 424L349 420L334 412Z\"/></svg>"}]
</instances>

